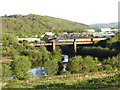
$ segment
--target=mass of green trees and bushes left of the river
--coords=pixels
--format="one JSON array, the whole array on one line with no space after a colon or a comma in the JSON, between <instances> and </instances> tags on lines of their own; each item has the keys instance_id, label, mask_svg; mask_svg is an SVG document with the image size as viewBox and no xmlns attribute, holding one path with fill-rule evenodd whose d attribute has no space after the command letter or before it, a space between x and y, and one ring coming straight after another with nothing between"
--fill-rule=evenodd
<instances>
[{"instance_id":1,"label":"mass of green trees and bushes left of the river","mask_svg":"<svg viewBox=\"0 0 120 90\"><path fill-rule=\"evenodd\" d=\"M13 61L9 65L3 64L3 80L9 78L10 75L18 80L29 79L28 70L33 67L46 67L46 73L50 75L59 73L63 58L59 48L57 52L49 52L46 47L29 46L27 42L19 43L12 34L5 35L3 56L10 56Z\"/></svg>"}]
</instances>

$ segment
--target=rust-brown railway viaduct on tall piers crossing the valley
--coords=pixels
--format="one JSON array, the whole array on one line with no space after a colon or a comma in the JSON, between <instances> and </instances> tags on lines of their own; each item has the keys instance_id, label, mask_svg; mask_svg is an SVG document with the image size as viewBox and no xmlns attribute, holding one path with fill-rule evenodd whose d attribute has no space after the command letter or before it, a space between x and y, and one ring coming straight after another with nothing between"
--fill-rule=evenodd
<instances>
[{"instance_id":1,"label":"rust-brown railway viaduct on tall piers crossing the valley","mask_svg":"<svg viewBox=\"0 0 120 90\"><path fill-rule=\"evenodd\" d=\"M76 39L53 39L49 43L30 43L31 46L51 46L53 51L56 45L73 45L74 52L77 52L78 44L94 44L94 41L105 40L107 38L76 38Z\"/></svg>"}]
</instances>

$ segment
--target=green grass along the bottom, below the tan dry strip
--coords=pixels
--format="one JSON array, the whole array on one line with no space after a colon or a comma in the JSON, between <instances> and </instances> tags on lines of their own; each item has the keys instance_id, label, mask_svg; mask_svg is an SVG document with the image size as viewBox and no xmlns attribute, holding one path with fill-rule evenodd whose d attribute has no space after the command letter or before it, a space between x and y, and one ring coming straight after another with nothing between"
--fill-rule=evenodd
<instances>
[{"instance_id":1,"label":"green grass along the bottom, below the tan dry strip","mask_svg":"<svg viewBox=\"0 0 120 90\"><path fill-rule=\"evenodd\" d=\"M98 89L98 88L120 88L120 74L113 76L104 76L98 78L88 77L73 77L48 80L42 78L32 82L18 83L15 88L36 88L36 89ZM7 88L5 86L4 88Z\"/></svg>"}]
</instances>

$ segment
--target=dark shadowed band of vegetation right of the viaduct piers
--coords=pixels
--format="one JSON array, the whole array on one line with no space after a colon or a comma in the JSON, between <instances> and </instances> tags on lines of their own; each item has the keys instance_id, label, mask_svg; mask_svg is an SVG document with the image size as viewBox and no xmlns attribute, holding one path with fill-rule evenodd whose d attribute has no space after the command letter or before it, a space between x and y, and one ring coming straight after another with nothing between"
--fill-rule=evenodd
<instances>
[{"instance_id":1,"label":"dark shadowed band of vegetation right of the viaduct piers","mask_svg":"<svg viewBox=\"0 0 120 90\"><path fill-rule=\"evenodd\" d=\"M82 56L93 56L99 58L100 61L107 59L108 57L116 56L119 53L118 50L109 49L109 48L102 48L102 47L83 47L78 48L78 55Z\"/></svg>"}]
</instances>

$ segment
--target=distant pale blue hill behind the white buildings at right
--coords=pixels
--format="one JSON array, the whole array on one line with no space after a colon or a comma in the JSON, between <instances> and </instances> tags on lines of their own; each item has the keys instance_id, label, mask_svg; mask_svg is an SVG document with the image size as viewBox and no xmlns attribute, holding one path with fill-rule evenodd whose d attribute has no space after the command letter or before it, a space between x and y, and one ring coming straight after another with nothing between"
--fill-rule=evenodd
<instances>
[{"instance_id":1,"label":"distant pale blue hill behind the white buildings at right","mask_svg":"<svg viewBox=\"0 0 120 90\"><path fill-rule=\"evenodd\" d=\"M91 24L91 27L97 27L97 28L102 28L102 27L109 27L109 28L118 28L118 22L114 23L98 23L98 24Z\"/></svg>"}]
</instances>

